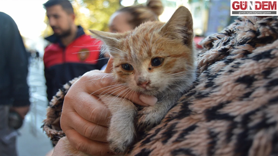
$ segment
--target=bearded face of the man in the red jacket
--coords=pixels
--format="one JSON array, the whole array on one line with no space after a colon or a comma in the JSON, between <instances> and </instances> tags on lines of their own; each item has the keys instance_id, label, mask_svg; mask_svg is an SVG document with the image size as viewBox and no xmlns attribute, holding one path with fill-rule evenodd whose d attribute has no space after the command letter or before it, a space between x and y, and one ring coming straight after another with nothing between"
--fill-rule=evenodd
<instances>
[{"instance_id":1,"label":"bearded face of the man in the red jacket","mask_svg":"<svg viewBox=\"0 0 278 156\"><path fill-rule=\"evenodd\" d=\"M60 5L46 8L46 15L49 24L58 37L66 37L71 33L71 25L74 22L74 15L68 14Z\"/></svg>"}]
</instances>

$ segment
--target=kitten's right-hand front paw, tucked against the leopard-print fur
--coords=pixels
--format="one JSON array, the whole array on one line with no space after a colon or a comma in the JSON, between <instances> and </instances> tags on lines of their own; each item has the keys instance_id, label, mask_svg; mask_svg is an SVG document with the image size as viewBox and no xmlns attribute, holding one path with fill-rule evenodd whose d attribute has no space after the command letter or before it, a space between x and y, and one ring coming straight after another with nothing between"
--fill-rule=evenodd
<instances>
[{"instance_id":1,"label":"kitten's right-hand front paw, tucked against the leopard-print fur","mask_svg":"<svg viewBox=\"0 0 278 156\"><path fill-rule=\"evenodd\" d=\"M139 130L150 130L160 123L165 114L155 110L154 107L146 107L138 112L137 127Z\"/></svg>"}]
</instances>

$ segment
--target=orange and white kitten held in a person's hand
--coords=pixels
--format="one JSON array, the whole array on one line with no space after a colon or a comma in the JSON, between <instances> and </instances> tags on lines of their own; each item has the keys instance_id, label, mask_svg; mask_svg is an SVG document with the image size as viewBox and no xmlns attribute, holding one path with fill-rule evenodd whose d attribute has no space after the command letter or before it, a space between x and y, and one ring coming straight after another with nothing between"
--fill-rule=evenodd
<instances>
[{"instance_id":1,"label":"orange and white kitten held in a person's hand","mask_svg":"<svg viewBox=\"0 0 278 156\"><path fill-rule=\"evenodd\" d=\"M114 60L112 74L119 84L130 89L126 94L132 97L136 91L158 99L154 106L138 110L129 100L100 96L112 114L108 131L110 149L124 153L133 144L136 131L150 130L159 124L195 80L192 16L182 6L166 24L146 22L123 34L91 32L104 42L105 51Z\"/></svg>"}]
</instances>

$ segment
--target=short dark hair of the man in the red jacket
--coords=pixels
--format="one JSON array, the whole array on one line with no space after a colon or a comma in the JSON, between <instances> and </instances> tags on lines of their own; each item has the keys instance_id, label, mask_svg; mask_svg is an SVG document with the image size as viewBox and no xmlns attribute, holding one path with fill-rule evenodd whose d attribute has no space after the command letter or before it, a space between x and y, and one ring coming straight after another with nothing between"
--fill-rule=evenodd
<instances>
[{"instance_id":1,"label":"short dark hair of the man in the red jacket","mask_svg":"<svg viewBox=\"0 0 278 156\"><path fill-rule=\"evenodd\" d=\"M71 2L68 0L49 0L46 3L43 4L44 8L48 8L51 6L60 5L66 11L68 14L73 14L73 7L71 5Z\"/></svg>"}]
</instances>

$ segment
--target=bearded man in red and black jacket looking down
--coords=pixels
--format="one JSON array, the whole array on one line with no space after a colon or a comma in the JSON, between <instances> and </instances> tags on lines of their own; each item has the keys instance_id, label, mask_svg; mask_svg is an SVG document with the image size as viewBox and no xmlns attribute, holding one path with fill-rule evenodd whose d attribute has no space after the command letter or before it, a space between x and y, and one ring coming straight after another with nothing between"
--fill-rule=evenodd
<instances>
[{"instance_id":1,"label":"bearded man in red and black jacket looking down","mask_svg":"<svg viewBox=\"0 0 278 156\"><path fill-rule=\"evenodd\" d=\"M54 34L44 50L46 93L50 101L68 81L87 71L98 69L108 62L100 55L100 41L86 35L76 26L73 7L68 0L49 0L44 4Z\"/></svg>"}]
</instances>

